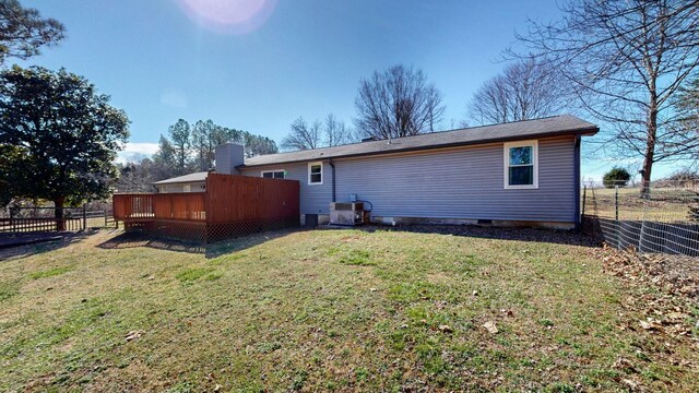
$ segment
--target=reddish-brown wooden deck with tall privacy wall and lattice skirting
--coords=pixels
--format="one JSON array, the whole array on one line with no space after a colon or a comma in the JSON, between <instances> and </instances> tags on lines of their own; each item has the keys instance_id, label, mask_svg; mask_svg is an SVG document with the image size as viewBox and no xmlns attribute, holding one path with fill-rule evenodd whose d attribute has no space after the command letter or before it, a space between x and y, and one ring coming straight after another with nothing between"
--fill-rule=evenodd
<instances>
[{"instance_id":1,"label":"reddish-brown wooden deck with tall privacy wall and lattice skirting","mask_svg":"<svg viewBox=\"0 0 699 393\"><path fill-rule=\"evenodd\" d=\"M205 192L115 194L114 216L127 230L215 241L299 225L299 183L209 174Z\"/></svg>"}]
</instances>

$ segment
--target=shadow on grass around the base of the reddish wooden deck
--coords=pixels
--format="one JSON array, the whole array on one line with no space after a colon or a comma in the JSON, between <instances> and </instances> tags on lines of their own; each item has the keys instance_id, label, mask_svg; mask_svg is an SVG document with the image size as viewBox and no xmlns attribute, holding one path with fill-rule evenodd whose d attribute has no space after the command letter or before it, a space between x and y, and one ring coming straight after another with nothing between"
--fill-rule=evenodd
<instances>
[{"instance_id":1,"label":"shadow on grass around the base of the reddish wooden deck","mask_svg":"<svg viewBox=\"0 0 699 393\"><path fill-rule=\"evenodd\" d=\"M108 250L147 247L158 250L204 254L206 258L212 259L227 253L245 250L247 248L254 247L280 237L284 237L298 230L299 229L297 228L293 228L252 234L208 245L203 245L201 242L156 238L142 233L125 233L98 245L97 247Z\"/></svg>"}]
</instances>

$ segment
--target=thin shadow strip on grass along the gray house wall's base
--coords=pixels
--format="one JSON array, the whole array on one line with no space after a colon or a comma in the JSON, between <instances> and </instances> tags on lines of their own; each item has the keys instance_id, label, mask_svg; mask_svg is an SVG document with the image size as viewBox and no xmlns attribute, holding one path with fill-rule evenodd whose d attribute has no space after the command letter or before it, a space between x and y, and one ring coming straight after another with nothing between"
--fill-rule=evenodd
<instances>
[{"instance_id":1,"label":"thin shadow strip on grass along the gray house wall's base","mask_svg":"<svg viewBox=\"0 0 699 393\"><path fill-rule=\"evenodd\" d=\"M479 227L475 225L399 225L394 227L366 225L353 228L366 231L388 230L418 234L438 234L482 239L547 242L583 247L602 246L599 239L594 238L593 236L585 235L579 230L560 230L545 228L497 228Z\"/></svg>"}]
</instances>

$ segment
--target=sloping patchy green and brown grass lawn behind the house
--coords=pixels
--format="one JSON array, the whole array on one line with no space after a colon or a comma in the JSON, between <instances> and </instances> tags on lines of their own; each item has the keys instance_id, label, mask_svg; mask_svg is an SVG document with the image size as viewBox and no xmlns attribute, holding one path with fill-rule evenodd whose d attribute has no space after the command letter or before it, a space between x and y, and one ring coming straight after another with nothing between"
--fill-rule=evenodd
<instances>
[{"instance_id":1,"label":"sloping patchy green and brown grass lawn behind the house","mask_svg":"<svg viewBox=\"0 0 699 393\"><path fill-rule=\"evenodd\" d=\"M621 303L642 294L555 234L292 231L205 254L119 234L0 253L0 391L691 391L699 381L691 340L640 329Z\"/></svg>"}]
</instances>

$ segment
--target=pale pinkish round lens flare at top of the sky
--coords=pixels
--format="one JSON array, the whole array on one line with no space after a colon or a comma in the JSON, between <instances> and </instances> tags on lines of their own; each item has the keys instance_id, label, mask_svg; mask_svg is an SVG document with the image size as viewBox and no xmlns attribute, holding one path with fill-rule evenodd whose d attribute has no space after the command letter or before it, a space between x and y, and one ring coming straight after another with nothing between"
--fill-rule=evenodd
<instances>
[{"instance_id":1,"label":"pale pinkish round lens flare at top of the sky","mask_svg":"<svg viewBox=\"0 0 699 393\"><path fill-rule=\"evenodd\" d=\"M276 0L179 0L179 3L191 20L222 34L253 32L276 7Z\"/></svg>"}]
</instances>

